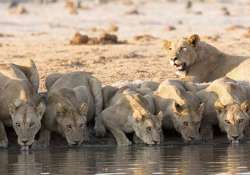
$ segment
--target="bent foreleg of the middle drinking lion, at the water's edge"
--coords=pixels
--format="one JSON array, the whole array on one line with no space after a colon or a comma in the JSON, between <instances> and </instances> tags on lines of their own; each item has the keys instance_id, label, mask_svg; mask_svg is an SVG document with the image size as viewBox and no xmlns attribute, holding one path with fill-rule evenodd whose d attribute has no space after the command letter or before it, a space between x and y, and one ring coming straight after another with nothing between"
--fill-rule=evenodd
<instances>
[{"instance_id":1,"label":"bent foreleg of the middle drinking lion, at the water's edge","mask_svg":"<svg viewBox=\"0 0 250 175\"><path fill-rule=\"evenodd\" d=\"M119 146L131 145L131 142L128 140L127 136L124 134L122 130L117 128L109 128L109 130L115 137L117 145Z\"/></svg>"}]
</instances>

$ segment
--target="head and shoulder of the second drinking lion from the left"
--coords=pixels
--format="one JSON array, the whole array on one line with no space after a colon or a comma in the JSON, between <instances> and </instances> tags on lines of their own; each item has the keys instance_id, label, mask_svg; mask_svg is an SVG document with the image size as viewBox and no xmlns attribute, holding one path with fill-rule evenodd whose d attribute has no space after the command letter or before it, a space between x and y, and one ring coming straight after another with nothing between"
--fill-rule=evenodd
<instances>
[{"instance_id":1,"label":"head and shoulder of the second drinking lion from the left","mask_svg":"<svg viewBox=\"0 0 250 175\"><path fill-rule=\"evenodd\" d=\"M87 114L88 105L79 103L74 91L62 89L59 93L50 94L46 115L55 117L59 132L70 146L80 145L88 139Z\"/></svg>"}]
</instances>

